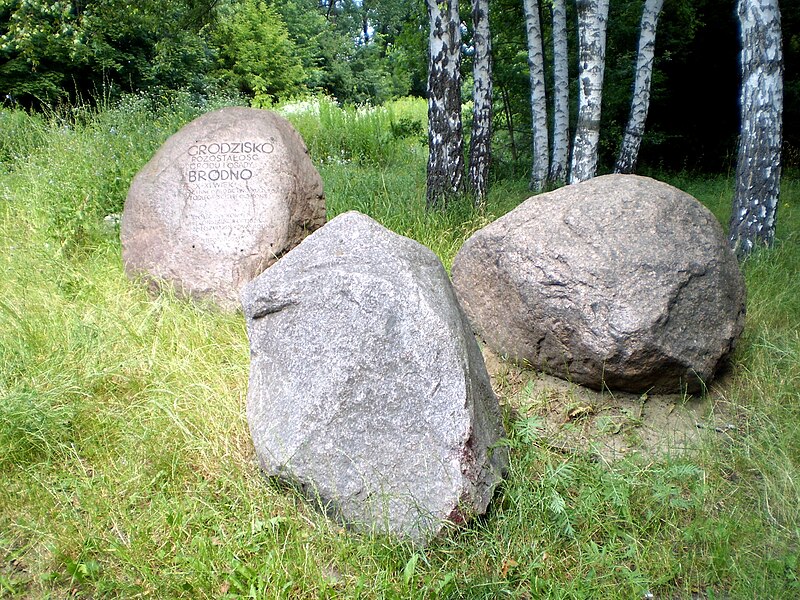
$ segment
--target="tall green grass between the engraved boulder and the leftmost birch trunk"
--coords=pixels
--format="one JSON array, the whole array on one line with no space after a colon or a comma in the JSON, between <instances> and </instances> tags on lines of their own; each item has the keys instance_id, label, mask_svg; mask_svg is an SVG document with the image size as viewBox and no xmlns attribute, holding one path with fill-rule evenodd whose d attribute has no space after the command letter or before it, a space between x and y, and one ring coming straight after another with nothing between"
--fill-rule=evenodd
<instances>
[{"instance_id":1,"label":"tall green grass between the engraved boulder and the leftmost birch trunk","mask_svg":"<svg viewBox=\"0 0 800 600\"><path fill-rule=\"evenodd\" d=\"M328 218L358 210L414 238L449 267L464 239L487 222L464 198L425 208L427 105L403 98L380 107L339 107L325 98L278 107L306 141L325 181Z\"/></svg>"}]
</instances>

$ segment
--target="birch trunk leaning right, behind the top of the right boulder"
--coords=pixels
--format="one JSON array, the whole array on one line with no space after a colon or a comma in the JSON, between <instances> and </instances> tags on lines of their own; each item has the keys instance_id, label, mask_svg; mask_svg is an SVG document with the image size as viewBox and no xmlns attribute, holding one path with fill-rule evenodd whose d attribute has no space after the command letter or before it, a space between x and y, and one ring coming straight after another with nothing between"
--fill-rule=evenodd
<instances>
[{"instance_id":1,"label":"birch trunk leaning right, behind the top of the right boulder","mask_svg":"<svg viewBox=\"0 0 800 600\"><path fill-rule=\"evenodd\" d=\"M636 82L633 86L631 114L622 147L614 166L615 173L633 173L642 145L647 111L650 108L650 83L653 77L653 59L656 53L656 27L664 0L645 0L642 25L639 33L638 58L636 60Z\"/></svg>"}]
</instances>

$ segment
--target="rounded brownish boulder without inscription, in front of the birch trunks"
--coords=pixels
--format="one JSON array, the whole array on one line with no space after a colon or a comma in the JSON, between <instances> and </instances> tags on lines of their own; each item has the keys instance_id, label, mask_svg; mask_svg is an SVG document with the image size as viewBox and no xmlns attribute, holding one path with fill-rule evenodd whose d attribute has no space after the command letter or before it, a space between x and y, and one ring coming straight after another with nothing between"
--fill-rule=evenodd
<instances>
[{"instance_id":1,"label":"rounded brownish boulder without inscription, in front of the birch trunks","mask_svg":"<svg viewBox=\"0 0 800 600\"><path fill-rule=\"evenodd\" d=\"M596 389L696 391L744 326L744 279L717 220L634 175L528 199L467 240L452 276L491 348Z\"/></svg>"}]
</instances>

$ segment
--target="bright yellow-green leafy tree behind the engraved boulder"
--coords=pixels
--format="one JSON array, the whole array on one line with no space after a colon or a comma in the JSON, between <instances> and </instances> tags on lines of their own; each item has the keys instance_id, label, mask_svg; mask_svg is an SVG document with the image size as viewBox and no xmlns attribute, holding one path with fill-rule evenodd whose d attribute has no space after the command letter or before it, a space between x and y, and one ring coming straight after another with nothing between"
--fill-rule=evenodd
<instances>
[{"instance_id":1,"label":"bright yellow-green leafy tree behind the engraved boulder","mask_svg":"<svg viewBox=\"0 0 800 600\"><path fill-rule=\"evenodd\" d=\"M302 91L306 74L296 46L266 2L241 0L220 8L213 40L219 56L214 75L253 97L255 105Z\"/></svg>"}]
</instances>

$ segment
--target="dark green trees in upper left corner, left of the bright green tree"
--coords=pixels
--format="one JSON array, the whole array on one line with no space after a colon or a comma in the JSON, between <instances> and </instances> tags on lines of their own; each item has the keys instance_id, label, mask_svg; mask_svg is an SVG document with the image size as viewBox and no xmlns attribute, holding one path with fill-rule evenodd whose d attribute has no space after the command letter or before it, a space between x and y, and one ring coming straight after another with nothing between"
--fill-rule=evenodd
<instances>
[{"instance_id":1,"label":"dark green trees in upper left corner, left of the bright green tree","mask_svg":"<svg viewBox=\"0 0 800 600\"><path fill-rule=\"evenodd\" d=\"M0 4L0 90L24 104L123 90L205 86L211 54L204 27L212 0Z\"/></svg>"}]
</instances>

